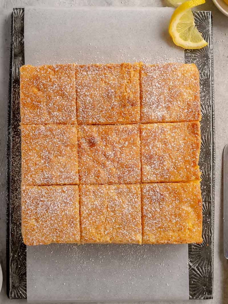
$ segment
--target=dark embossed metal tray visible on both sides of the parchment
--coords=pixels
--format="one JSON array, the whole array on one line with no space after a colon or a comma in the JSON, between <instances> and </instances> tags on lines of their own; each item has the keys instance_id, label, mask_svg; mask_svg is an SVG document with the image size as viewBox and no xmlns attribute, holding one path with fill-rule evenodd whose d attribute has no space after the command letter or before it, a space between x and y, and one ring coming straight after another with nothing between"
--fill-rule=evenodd
<instances>
[{"instance_id":1,"label":"dark embossed metal tray visible on both sides of the parchment","mask_svg":"<svg viewBox=\"0 0 228 304\"><path fill-rule=\"evenodd\" d=\"M203 242L188 245L189 299L213 297L215 121L213 31L211 12L194 12L195 23L208 46L185 50L185 63L195 63L200 74ZM10 299L26 299L26 246L21 236L20 75L24 64L24 9L12 12L11 73L8 116L7 292Z\"/></svg>"}]
</instances>

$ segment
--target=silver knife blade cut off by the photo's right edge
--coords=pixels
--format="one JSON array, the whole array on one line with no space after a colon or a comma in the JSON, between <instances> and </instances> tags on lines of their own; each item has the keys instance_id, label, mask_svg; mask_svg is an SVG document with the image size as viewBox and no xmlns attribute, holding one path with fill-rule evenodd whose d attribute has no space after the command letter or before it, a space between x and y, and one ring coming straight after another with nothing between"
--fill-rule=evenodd
<instances>
[{"instance_id":1,"label":"silver knife blade cut off by the photo's right edge","mask_svg":"<svg viewBox=\"0 0 228 304\"><path fill-rule=\"evenodd\" d=\"M228 144L223 152L223 250L228 259Z\"/></svg>"}]
</instances>

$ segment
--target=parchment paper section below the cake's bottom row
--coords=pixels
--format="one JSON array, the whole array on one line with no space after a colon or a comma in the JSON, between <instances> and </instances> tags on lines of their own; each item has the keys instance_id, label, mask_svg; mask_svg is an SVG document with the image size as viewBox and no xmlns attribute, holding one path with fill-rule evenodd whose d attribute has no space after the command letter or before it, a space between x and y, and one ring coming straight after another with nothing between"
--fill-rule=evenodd
<instances>
[{"instance_id":1,"label":"parchment paper section below the cake's bottom row","mask_svg":"<svg viewBox=\"0 0 228 304\"><path fill-rule=\"evenodd\" d=\"M27 247L29 302L188 299L187 245Z\"/></svg>"}]
</instances>

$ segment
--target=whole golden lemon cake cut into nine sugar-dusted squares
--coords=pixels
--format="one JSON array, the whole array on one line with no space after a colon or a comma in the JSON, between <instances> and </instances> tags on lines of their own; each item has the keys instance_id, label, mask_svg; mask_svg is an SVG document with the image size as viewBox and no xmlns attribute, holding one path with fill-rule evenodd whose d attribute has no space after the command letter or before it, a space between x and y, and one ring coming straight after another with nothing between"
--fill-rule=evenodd
<instances>
[{"instance_id":1,"label":"whole golden lemon cake cut into nine sugar-dusted squares","mask_svg":"<svg viewBox=\"0 0 228 304\"><path fill-rule=\"evenodd\" d=\"M20 72L26 245L202 242L194 64Z\"/></svg>"}]
</instances>

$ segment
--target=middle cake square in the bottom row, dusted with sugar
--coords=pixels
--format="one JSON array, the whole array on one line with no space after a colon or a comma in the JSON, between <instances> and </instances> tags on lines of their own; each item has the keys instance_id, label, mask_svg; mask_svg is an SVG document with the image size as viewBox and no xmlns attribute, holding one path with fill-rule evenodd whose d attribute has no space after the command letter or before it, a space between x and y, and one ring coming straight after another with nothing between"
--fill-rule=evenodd
<instances>
[{"instance_id":1,"label":"middle cake square in the bottom row, dusted with sugar","mask_svg":"<svg viewBox=\"0 0 228 304\"><path fill-rule=\"evenodd\" d=\"M142 241L140 185L80 185L82 243Z\"/></svg>"}]
</instances>

